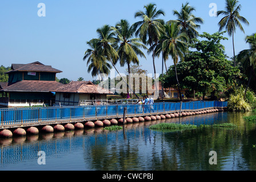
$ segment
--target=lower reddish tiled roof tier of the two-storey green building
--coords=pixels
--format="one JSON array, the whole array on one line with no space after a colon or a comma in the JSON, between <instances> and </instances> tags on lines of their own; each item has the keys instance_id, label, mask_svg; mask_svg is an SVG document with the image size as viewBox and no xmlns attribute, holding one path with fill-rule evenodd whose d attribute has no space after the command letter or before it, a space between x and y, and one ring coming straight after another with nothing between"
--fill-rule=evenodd
<instances>
[{"instance_id":1,"label":"lower reddish tiled roof tier of the two-storey green building","mask_svg":"<svg viewBox=\"0 0 256 182\"><path fill-rule=\"evenodd\" d=\"M22 80L0 91L4 92L53 92L63 84L57 81Z\"/></svg>"}]
</instances>

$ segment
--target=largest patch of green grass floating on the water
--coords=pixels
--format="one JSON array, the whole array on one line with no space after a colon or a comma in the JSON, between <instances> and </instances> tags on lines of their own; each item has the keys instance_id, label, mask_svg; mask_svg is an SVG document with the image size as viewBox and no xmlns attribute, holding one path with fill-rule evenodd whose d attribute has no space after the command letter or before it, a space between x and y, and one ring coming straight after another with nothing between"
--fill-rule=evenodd
<instances>
[{"instance_id":1,"label":"largest patch of green grass floating on the water","mask_svg":"<svg viewBox=\"0 0 256 182\"><path fill-rule=\"evenodd\" d=\"M196 125L179 124L179 123L158 123L149 127L151 130L181 130L181 129L195 129Z\"/></svg>"}]
</instances>

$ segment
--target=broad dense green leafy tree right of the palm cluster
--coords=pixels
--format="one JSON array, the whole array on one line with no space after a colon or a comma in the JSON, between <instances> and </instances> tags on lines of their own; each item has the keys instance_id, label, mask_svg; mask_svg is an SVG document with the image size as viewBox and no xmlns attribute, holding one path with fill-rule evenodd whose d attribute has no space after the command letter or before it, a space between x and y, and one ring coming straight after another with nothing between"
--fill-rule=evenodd
<instances>
[{"instance_id":1,"label":"broad dense green leafy tree right of the palm cluster","mask_svg":"<svg viewBox=\"0 0 256 182\"><path fill-rule=\"evenodd\" d=\"M206 40L195 39L190 45L195 51L189 51L185 61L177 64L178 78L181 88L198 90L203 93L203 99L207 90L215 92L226 92L236 85L234 77L241 77L237 67L225 57L225 47L220 43L226 40L224 32L216 32L213 35L203 32L199 37ZM165 87L177 84L175 80L175 68L171 66L169 76L163 75L160 79Z\"/></svg>"}]
</instances>

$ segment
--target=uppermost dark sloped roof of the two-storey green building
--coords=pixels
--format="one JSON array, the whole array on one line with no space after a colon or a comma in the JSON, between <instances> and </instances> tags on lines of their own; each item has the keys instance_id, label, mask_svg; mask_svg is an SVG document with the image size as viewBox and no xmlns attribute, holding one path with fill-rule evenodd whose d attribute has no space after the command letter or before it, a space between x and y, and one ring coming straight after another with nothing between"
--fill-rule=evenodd
<instances>
[{"instance_id":1,"label":"uppermost dark sloped roof of the two-storey green building","mask_svg":"<svg viewBox=\"0 0 256 182\"><path fill-rule=\"evenodd\" d=\"M32 72L55 72L61 73L62 71L52 68L50 65L44 65L38 61L29 63L29 64L11 64L11 72L18 72L18 71L32 71Z\"/></svg>"}]
</instances>

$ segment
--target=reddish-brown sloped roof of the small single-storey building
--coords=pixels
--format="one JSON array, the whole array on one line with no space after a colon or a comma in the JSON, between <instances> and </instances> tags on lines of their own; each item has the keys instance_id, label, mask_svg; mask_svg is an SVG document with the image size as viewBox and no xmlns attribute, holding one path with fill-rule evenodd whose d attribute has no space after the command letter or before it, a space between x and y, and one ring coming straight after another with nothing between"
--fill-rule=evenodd
<instances>
[{"instance_id":1,"label":"reddish-brown sloped roof of the small single-storey building","mask_svg":"<svg viewBox=\"0 0 256 182\"><path fill-rule=\"evenodd\" d=\"M91 81L71 81L69 84L54 90L54 92L113 94L108 89L94 85Z\"/></svg>"}]
</instances>

